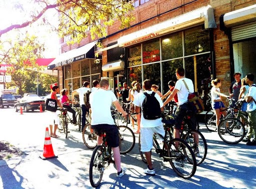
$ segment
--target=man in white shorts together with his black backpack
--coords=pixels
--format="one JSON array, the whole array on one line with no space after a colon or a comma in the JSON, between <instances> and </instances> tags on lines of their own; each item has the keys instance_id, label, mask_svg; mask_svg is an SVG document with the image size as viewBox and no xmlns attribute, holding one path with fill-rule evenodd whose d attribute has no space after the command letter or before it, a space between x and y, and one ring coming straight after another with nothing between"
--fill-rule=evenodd
<instances>
[{"instance_id":1,"label":"man in white shorts together with his black backpack","mask_svg":"<svg viewBox=\"0 0 256 189\"><path fill-rule=\"evenodd\" d=\"M161 111L163 111L162 101L158 94L151 91L151 82L146 79L142 83L145 91L139 92L134 98L135 112L139 113L140 119L140 146L147 161L146 175L153 176L155 171L152 167L151 149L153 147L153 134L158 133L164 136L164 129L161 123Z\"/></svg>"}]
</instances>

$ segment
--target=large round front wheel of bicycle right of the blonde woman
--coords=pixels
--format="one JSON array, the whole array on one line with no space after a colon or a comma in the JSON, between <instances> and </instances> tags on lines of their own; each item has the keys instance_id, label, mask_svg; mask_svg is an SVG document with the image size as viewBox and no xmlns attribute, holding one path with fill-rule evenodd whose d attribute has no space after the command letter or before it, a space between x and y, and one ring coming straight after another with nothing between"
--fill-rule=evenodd
<instances>
[{"instance_id":1,"label":"large round front wheel of bicycle right of the blonde woman","mask_svg":"<svg viewBox=\"0 0 256 189\"><path fill-rule=\"evenodd\" d=\"M245 128L237 118L223 119L218 126L218 136L228 144L237 144L245 136Z\"/></svg>"}]
</instances>

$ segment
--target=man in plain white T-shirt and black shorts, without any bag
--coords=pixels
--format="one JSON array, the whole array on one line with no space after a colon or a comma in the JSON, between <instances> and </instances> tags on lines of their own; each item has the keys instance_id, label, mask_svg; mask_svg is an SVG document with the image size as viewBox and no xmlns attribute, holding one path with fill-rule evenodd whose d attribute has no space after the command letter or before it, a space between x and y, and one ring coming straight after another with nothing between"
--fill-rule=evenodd
<instances>
[{"instance_id":1,"label":"man in plain white T-shirt and black shorts, without any bag","mask_svg":"<svg viewBox=\"0 0 256 189\"><path fill-rule=\"evenodd\" d=\"M118 129L114 124L111 116L111 104L113 103L116 109L126 116L127 113L120 106L116 96L109 90L109 83L106 79L99 82L99 89L92 92L89 96L91 108L91 128L96 133L105 132L107 144L112 148L115 166L117 169L117 177L122 177L126 168L121 168L121 157L119 151L119 135ZM97 136L97 144L102 144L102 137Z\"/></svg>"}]
</instances>

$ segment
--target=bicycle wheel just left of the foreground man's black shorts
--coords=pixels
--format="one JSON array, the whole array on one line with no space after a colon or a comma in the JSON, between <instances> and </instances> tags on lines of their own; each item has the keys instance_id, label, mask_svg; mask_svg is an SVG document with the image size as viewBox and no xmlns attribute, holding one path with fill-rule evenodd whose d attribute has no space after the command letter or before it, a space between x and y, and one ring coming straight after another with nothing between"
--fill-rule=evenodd
<instances>
[{"instance_id":1,"label":"bicycle wheel just left of the foreground man's black shorts","mask_svg":"<svg viewBox=\"0 0 256 189\"><path fill-rule=\"evenodd\" d=\"M90 128L90 123L84 126L82 129L82 140L87 148L93 149L97 146L97 135L94 131L91 132Z\"/></svg>"}]
</instances>

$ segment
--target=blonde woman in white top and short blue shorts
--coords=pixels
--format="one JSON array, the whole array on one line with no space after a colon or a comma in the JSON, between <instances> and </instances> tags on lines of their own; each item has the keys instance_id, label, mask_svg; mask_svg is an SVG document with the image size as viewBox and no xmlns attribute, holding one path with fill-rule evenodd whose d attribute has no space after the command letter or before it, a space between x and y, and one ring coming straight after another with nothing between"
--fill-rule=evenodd
<instances>
[{"instance_id":1,"label":"blonde woman in white top and short blue shorts","mask_svg":"<svg viewBox=\"0 0 256 189\"><path fill-rule=\"evenodd\" d=\"M219 90L219 87L221 86L220 79L211 80L211 85L212 85L212 88L210 90L211 107L212 107L212 110L214 110L214 113L216 115L216 126L218 127L219 119L220 119L220 111L225 109L225 106L220 96L226 97L226 98L230 98L230 96L220 93L220 90ZM226 116L226 111L221 111L221 112L224 116Z\"/></svg>"}]
</instances>

